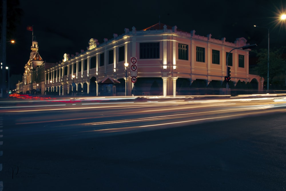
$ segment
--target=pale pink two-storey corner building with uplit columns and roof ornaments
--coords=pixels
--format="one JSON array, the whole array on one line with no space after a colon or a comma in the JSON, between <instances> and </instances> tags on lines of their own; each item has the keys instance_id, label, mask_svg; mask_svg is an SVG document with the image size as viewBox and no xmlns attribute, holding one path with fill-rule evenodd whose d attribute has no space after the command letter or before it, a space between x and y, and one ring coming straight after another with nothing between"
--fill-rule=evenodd
<instances>
[{"instance_id":1,"label":"pale pink two-storey corner building with uplit columns and roof ornaments","mask_svg":"<svg viewBox=\"0 0 286 191\"><path fill-rule=\"evenodd\" d=\"M227 74L227 54L234 48L247 45L245 38L234 43L185 32L162 23L137 31L124 29L113 38L90 39L87 50L75 55L64 54L57 65L45 69L45 89L66 95L72 90L85 95L178 95L183 84L194 81L223 83ZM231 81L250 82L257 91L263 90L263 79L249 74L250 49L235 49L229 55ZM137 81L131 81L131 58L137 59ZM128 63L127 74L124 63ZM30 66L29 66L30 67ZM26 72L25 72L26 73ZM125 83L127 77L127 83ZM74 76L74 78L72 77ZM105 80L105 79L109 80ZM111 82L115 80L117 83ZM103 81L109 81L105 85ZM120 82L120 83L118 83ZM192 94L191 91L184 92Z\"/></svg>"}]
</instances>

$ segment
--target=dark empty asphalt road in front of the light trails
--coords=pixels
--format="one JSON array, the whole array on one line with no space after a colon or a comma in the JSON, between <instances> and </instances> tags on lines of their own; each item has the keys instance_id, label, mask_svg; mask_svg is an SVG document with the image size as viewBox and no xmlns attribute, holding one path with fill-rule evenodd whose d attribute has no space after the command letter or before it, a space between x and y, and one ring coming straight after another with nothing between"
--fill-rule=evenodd
<instances>
[{"instance_id":1,"label":"dark empty asphalt road in front of the light trails","mask_svg":"<svg viewBox=\"0 0 286 191\"><path fill-rule=\"evenodd\" d=\"M110 118L107 108L91 114L74 110L77 120L62 110L0 114L3 190L286 189L285 110L126 130L119 122L125 119ZM108 118L116 123L102 124ZM126 119L128 126L138 123L130 122L133 116ZM124 130L116 131L118 126Z\"/></svg>"}]
</instances>

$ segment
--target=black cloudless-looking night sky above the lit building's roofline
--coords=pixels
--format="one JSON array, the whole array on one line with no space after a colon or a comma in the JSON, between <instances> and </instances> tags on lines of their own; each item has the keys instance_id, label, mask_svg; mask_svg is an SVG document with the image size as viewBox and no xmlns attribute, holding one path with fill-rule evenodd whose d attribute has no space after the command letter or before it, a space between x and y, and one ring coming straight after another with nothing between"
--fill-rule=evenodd
<instances>
[{"instance_id":1,"label":"black cloudless-looking night sky above the lit building's roofline","mask_svg":"<svg viewBox=\"0 0 286 191\"><path fill-rule=\"evenodd\" d=\"M168 3L167 3L168 2ZM64 53L86 50L91 38L112 39L124 28L142 30L159 22L176 25L178 29L197 35L212 34L212 38L226 38L234 42L244 37L250 44L267 48L267 29L270 29L270 48L286 45L285 23L277 23L277 14L286 10L281 0L221 1L74 1L20 0L24 15L15 33L16 44L7 45L7 65L12 74L23 74L29 60L33 25L39 54L46 62L63 59Z\"/></svg>"}]
</instances>

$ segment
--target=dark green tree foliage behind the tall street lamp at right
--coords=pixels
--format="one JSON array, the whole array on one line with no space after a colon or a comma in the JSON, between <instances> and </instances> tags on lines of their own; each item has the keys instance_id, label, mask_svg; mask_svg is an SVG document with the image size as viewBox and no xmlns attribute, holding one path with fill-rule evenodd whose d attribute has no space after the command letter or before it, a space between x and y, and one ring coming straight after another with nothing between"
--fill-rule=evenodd
<instances>
[{"instance_id":1,"label":"dark green tree foliage behind the tall street lamp at right","mask_svg":"<svg viewBox=\"0 0 286 191\"><path fill-rule=\"evenodd\" d=\"M286 60L282 58L283 52L286 47L281 47L279 49L274 48L269 50L269 83L272 82L275 76L283 75L286 71ZM257 57L257 65L255 71L260 77L267 80L268 71L268 49L259 49L258 51L253 51Z\"/></svg>"}]
</instances>

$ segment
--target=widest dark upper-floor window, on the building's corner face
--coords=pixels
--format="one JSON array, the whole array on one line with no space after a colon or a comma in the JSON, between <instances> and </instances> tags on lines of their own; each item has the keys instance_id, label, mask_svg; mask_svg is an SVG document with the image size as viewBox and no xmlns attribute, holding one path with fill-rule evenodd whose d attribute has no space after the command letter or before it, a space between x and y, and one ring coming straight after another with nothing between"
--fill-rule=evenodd
<instances>
[{"instance_id":1,"label":"widest dark upper-floor window, on the building's corner face","mask_svg":"<svg viewBox=\"0 0 286 191\"><path fill-rule=\"evenodd\" d=\"M160 43L140 43L140 59L160 58Z\"/></svg>"}]
</instances>

